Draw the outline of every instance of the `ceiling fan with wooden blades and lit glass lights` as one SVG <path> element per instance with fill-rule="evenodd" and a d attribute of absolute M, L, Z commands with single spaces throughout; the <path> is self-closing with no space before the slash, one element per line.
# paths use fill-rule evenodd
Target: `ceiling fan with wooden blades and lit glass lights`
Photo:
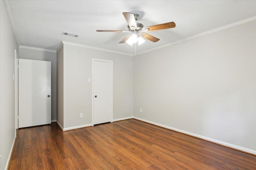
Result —
<path fill-rule="evenodd" d="M 137 20 L 139 18 L 138 14 L 132 14 L 130 12 L 123 12 L 124 18 L 126 19 L 129 31 L 124 30 L 96 30 L 97 32 L 122 32 L 122 33 L 132 33 L 131 35 L 127 35 L 124 39 L 122 39 L 119 43 L 128 43 L 130 45 L 137 43 L 140 45 L 144 43 L 144 39 L 147 39 L 152 42 L 157 42 L 160 39 L 147 34 L 149 31 L 157 31 L 161 29 L 174 28 L 176 24 L 174 22 L 162 23 L 159 25 L 152 25 L 149 27 L 144 27 L 142 23 L 138 23 Z"/>

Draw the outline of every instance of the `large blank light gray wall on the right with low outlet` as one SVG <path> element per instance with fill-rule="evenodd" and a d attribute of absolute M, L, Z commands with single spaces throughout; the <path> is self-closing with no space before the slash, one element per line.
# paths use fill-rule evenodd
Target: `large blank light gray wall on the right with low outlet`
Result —
<path fill-rule="evenodd" d="M 256 21 L 135 56 L 133 76 L 134 117 L 256 153 Z"/>

